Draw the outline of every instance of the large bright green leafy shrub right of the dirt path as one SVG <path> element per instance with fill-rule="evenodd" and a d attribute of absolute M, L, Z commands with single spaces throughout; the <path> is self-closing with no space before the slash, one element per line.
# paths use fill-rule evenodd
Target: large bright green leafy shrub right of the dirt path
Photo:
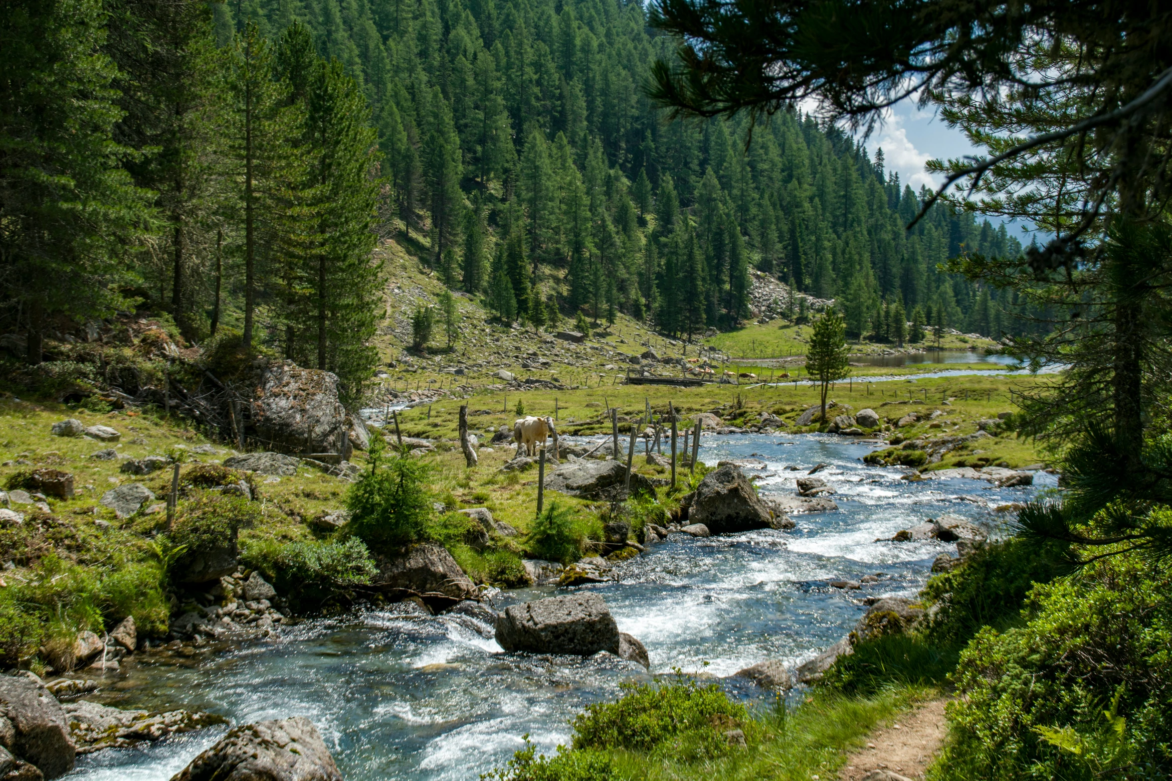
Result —
<path fill-rule="evenodd" d="M 1024 625 L 982 629 L 962 653 L 931 777 L 1168 777 L 1170 592 L 1166 568 L 1134 555 L 1036 585 Z"/>

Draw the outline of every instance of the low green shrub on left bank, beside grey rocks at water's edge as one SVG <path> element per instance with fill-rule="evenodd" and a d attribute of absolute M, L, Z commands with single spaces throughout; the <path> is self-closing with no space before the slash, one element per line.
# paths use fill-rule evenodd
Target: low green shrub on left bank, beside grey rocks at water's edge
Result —
<path fill-rule="evenodd" d="M 280 542 L 246 536 L 240 561 L 260 570 L 294 609 L 321 605 L 341 591 L 369 583 L 379 571 L 357 537 Z"/>

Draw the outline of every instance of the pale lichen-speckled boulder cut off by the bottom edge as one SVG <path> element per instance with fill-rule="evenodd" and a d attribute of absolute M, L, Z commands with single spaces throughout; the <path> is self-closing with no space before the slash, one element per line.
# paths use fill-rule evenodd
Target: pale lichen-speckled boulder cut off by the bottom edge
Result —
<path fill-rule="evenodd" d="M 230 729 L 171 781 L 342 781 L 334 758 L 305 717 Z"/>

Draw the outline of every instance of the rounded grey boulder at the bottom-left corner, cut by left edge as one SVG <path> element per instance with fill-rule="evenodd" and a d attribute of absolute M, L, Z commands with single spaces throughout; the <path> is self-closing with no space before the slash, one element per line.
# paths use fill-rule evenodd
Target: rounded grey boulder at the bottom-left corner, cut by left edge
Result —
<path fill-rule="evenodd" d="M 18 676 L 0 676 L 0 745 L 46 779 L 71 770 L 76 754 L 61 704 L 40 681 Z"/>

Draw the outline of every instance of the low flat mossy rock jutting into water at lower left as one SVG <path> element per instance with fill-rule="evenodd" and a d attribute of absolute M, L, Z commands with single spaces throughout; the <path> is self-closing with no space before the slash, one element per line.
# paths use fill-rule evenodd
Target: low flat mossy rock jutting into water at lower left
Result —
<path fill-rule="evenodd" d="M 103 748 L 129 748 L 143 741 L 154 742 L 169 735 L 224 724 L 223 717 L 211 713 L 168 711 L 151 715 L 148 711 L 123 711 L 88 700 L 69 703 L 62 710 L 79 754 Z"/>

